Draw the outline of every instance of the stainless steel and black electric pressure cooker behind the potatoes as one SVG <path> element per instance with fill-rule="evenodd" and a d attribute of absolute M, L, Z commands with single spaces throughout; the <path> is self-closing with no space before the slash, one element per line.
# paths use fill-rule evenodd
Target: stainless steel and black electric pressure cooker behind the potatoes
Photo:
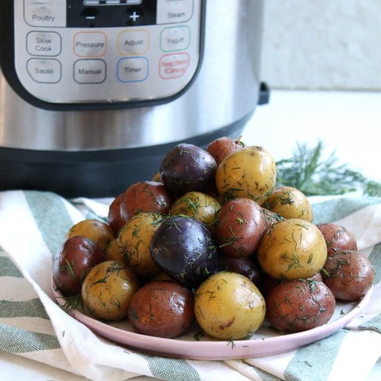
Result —
<path fill-rule="evenodd" d="M 0 189 L 114 197 L 267 102 L 263 1 L 1 0 Z"/>

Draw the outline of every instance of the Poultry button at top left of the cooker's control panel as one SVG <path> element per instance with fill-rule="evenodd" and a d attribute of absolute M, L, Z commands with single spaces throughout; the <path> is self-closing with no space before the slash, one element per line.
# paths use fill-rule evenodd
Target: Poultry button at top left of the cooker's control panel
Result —
<path fill-rule="evenodd" d="M 30 26 L 66 26 L 66 1 L 24 0 L 24 19 Z"/>

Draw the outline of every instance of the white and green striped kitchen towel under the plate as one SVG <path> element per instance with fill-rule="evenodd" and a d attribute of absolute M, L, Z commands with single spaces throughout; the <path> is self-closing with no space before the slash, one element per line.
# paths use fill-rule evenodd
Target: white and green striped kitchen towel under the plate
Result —
<path fill-rule="evenodd" d="M 0 351 L 91 380 L 362 380 L 381 356 L 381 199 L 312 197 L 314 222 L 353 232 L 376 272 L 371 301 L 346 328 L 281 355 L 196 361 L 146 355 L 107 342 L 64 312 L 51 291 L 52 258 L 67 230 L 107 218 L 112 200 L 0 193 Z M 1 371 L 0 371 L 1 375 Z"/>

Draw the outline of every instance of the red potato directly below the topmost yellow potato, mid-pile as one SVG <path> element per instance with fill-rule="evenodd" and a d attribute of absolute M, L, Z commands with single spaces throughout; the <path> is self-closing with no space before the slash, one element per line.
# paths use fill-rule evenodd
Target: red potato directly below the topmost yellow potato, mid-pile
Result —
<path fill-rule="evenodd" d="M 236 198 L 218 211 L 214 236 L 227 256 L 251 256 L 264 232 L 262 208 L 253 200 Z"/>

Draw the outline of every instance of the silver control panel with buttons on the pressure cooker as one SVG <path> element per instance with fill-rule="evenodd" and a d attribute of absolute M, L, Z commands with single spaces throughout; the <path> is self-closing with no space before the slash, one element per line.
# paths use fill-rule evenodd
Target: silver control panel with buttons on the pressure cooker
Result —
<path fill-rule="evenodd" d="M 15 71 L 46 103 L 134 103 L 184 90 L 202 0 L 15 0 Z"/>

